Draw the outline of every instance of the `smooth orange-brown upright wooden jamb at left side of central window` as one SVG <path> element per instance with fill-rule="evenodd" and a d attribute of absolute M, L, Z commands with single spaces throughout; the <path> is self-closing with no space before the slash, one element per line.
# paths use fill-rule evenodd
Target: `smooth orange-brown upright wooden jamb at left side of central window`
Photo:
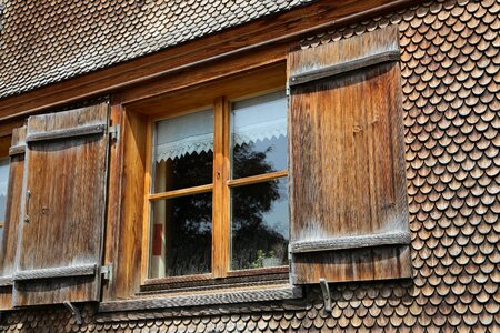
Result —
<path fill-rule="evenodd" d="M 148 122 L 142 114 L 122 113 L 121 158 L 118 163 L 117 232 L 114 234 L 113 266 L 116 274 L 111 281 L 112 294 L 108 299 L 129 299 L 139 292 L 142 276 L 143 251 L 143 212 L 146 201 L 146 164 Z"/>

